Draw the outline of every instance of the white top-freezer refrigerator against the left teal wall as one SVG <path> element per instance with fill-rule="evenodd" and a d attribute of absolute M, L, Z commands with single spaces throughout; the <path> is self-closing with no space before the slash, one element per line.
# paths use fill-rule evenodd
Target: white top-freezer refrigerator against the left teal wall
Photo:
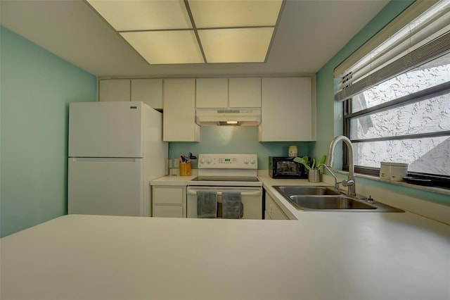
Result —
<path fill-rule="evenodd" d="M 69 106 L 68 213 L 151 216 L 165 175 L 162 113 L 142 102 Z"/>

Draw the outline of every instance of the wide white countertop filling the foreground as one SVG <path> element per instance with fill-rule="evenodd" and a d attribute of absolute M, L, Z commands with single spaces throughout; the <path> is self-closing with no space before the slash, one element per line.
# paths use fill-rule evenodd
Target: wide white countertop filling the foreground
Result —
<path fill-rule="evenodd" d="M 450 299 L 450 226 L 65 215 L 1 242 L 6 299 Z"/>

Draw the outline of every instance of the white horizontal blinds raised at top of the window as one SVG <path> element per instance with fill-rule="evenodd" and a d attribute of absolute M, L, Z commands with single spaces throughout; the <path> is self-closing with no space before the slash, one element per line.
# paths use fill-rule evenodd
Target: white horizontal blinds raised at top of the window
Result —
<path fill-rule="evenodd" d="M 411 15 L 415 15 L 412 20 Z M 450 52 L 450 0 L 416 1 L 393 23 L 397 23 L 397 27 L 401 23 L 407 25 L 391 33 L 392 37 L 361 59 L 358 57 L 361 50 L 356 51 L 335 68 L 335 77 L 339 80 L 335 100 L 345 101 L 369 87 Z M 375 44 L 395 27 L 395 24 L 388 26 L 375 35 Z"/>

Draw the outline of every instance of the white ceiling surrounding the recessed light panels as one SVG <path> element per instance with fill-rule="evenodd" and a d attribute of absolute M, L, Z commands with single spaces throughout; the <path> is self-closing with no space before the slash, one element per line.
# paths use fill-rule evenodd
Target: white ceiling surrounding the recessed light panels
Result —
<path fill-rule="evenodd" d="M 316 73 L 389 0 L 287 0 L 266 63 L 148 65 L 83 0 L 0 0 L 0 23 L 98 77 Z"/>

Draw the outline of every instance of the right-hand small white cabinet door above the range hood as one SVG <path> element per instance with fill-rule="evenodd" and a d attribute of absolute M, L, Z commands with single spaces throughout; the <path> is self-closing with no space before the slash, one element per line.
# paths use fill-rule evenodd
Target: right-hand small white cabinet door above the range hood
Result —
<path fill-rule="evenodd" d="M 261 78 L 230 78 L 230 107 L 261 107 Z"/>

